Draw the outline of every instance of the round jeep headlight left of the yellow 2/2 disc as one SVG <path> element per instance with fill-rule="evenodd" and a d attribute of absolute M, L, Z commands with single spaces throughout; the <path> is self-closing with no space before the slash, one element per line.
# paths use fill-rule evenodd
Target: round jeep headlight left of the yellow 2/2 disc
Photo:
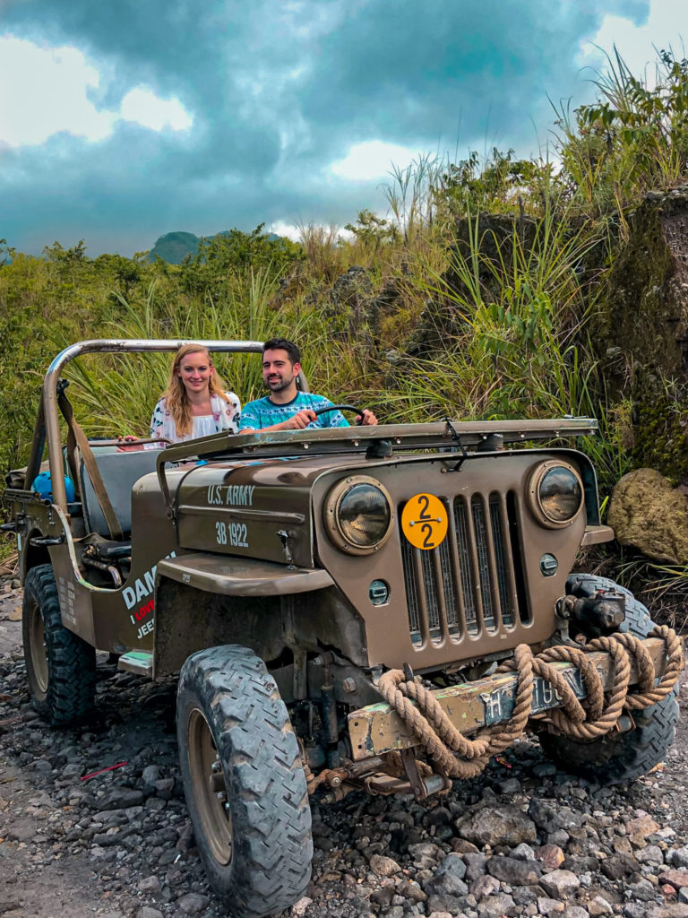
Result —
<path fill-rule="evenodd" d="M 350 554 L 371 554 L 392 532 L 392 499 L 369 476 L 338 482 L 327 495 L 323 514 L 332 543 Z"/>

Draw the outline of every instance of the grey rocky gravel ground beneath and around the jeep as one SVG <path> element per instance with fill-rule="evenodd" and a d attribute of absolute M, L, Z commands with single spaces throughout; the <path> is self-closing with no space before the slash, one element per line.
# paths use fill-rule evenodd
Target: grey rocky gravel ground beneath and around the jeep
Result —
<path fill-rule="evenodd" d="M 0 915 L 216 918 L 172 681 L 104 658 L 96 720 L 50 730 L 28 699 L 16 587 L 0 593 Z M 682 722 L 662 766 L 610 789 L 557 774 L 524 741 L 445 797 L 316 806 L 313 880 L 284 916 L 688 918 L 687 753 Z"/>

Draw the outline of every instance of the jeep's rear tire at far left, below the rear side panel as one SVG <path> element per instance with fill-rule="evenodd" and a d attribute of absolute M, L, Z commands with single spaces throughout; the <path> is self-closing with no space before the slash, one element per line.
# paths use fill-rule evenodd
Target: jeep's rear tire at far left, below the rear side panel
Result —
<path fill-rule="evenodd" d="M 83 721 L 94 708 L 95 650 L 64 627 L 50 565 L 24 584 L 22 639 L 31 700 L 53 727 Z"/>

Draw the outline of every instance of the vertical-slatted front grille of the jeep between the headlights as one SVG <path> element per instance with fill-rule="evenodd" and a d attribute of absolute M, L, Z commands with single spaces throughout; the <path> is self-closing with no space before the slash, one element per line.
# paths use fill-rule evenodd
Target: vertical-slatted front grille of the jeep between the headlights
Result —
<path fill-rule="evenodd" d="M 460 643 L 466 635 L 526 623 L 515 495 L 473 494 L 454 498 L 451 506 L 442 502 L 449 531 L 437 548 L 414 548 L 402 537 L 412 642 Z"/>

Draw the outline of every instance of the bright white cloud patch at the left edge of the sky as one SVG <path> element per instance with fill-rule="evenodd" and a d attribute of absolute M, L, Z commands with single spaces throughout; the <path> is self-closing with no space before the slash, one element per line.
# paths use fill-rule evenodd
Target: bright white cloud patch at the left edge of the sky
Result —
<path fill-rule="evenodd" d="M 161 99 L 144 86 L 128 92 L 118 111 L 98 109 L 88 93 L 99 84 L 97 69 L 76 48 L 0 36 L 0 144 L 34 146 L 60 131 L 104 140 L 121 118 L 156 131 L 193 123 L 178 99 Z"/>

